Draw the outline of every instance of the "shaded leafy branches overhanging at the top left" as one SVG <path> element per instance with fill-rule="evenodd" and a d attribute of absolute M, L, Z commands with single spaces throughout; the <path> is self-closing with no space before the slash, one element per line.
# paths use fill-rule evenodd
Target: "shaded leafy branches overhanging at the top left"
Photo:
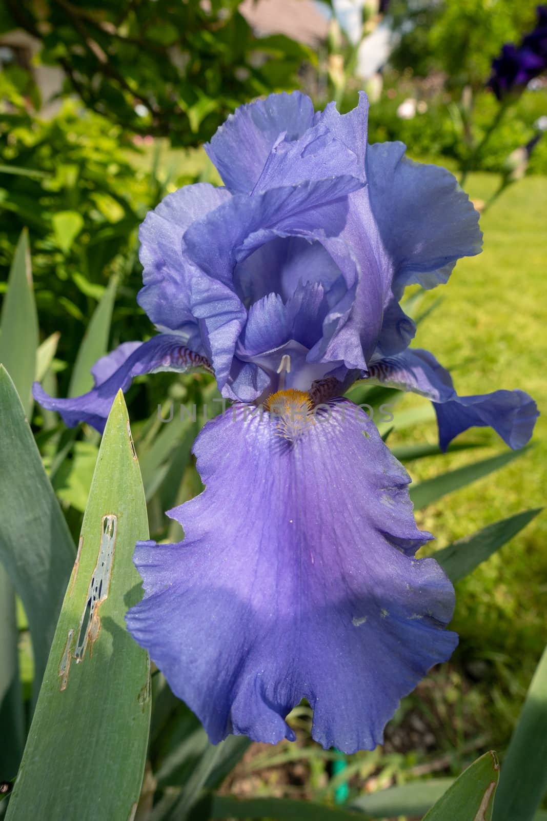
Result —
<path fill-rule="evenodd" d="M 207 140 L 240 103 L 296 85 L 312 51 L 281 34 L 258 38 L 241 0 L 5 0 L 0 32 L 19 28 L 62 67 L 66 91 L 141 135 Z"/>

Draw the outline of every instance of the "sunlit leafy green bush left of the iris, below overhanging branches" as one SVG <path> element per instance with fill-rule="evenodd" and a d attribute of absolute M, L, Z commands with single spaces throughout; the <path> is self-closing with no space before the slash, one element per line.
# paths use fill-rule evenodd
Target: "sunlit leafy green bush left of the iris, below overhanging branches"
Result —
<path fill-rule="evenodd" d="M 135 333 L 137 230 L 161 193 L 150 172 L 135 172 L 135 150 L 120 126 L 72 101 L 48 121 L 13 106 L 0 120 L 0 270 L 28 226 L 41 329 L 61 331 L 62 358 L 72 358 L 114 273 L 116 335 Z"/>

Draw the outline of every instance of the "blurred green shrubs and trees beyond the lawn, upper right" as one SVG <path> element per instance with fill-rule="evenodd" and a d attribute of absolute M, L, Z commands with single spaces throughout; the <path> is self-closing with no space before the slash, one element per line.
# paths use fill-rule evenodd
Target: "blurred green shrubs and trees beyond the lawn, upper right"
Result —
<path fill-rule="evenodd" d="M 547 114 L 547 86 L 539 80 L 503 105 L 487 87 L 502 46 L 519 42 L 534 27 L 536 0 L 392 0 L 385 19 L 368 20 L 363 36 L 380 23 L 391 31 L 390 56 L 381 76 L 363 82 L 355 74 L 359 43 L 350 44 L 331 22 L 322 67 L 328 82 L 315 95 L 320 108 L 335 97 L 348 112 L 365 85 L 369 142 L 401 140 L 414 156 L 443 158 L 461 169 L 463 180 L 471 170 L 491 171 L 507 186 L 525 173 L 547 173 L 540 121 Z M 360 42 L 366 49 L 366 39 Z M 405 101 L 411 101 L 410 110 L 402 114 Z"/>

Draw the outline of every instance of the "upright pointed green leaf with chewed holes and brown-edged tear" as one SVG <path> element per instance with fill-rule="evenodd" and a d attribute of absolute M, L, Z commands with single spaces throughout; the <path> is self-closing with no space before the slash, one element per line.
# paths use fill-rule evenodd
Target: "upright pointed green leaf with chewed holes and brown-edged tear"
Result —
<path fill-rule="evenodd" d="M 150 722 L 148 654 L 125 631 L 141 596 L 132 557 L 148 539 L 121 392 L 108 417 L 9 821 L 129 819 Z"/>

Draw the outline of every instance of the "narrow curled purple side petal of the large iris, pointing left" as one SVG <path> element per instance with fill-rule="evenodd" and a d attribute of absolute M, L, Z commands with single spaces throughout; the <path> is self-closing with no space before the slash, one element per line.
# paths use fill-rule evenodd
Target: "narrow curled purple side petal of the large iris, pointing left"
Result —
<path fill-rule="evenodd" d="M 81 397 L 50 397 L 39 382 L 34 383 L 33 396 L 44 408 L 57 410 L 69 428 L 87 422 L 102 433 L 116 393 L 126 391 L 135 376 L 162 370 L 184 373 L 192 368 L 210 369 L 210 365 L 203 356 L 182 345 L 180 337 L 160 333 L 148 342 L 125 342 L 98 360 L 92 369 L 95 387 Z"/>

